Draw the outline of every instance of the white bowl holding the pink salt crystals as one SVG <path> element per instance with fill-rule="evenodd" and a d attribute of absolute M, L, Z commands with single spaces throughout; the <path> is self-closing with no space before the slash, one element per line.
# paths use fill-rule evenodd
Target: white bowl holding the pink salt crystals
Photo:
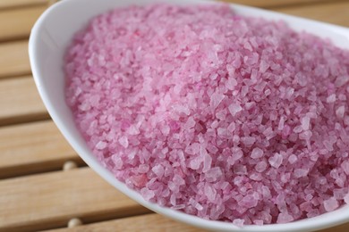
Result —
<path fill-rule="evenodd" d="M 30 65 L 38 87 L 38 92 L 47 111 L 81 158 L 102 178 L 115 186 L 123 194 L 174 220 L 179 220 L 195 227 L 214 231 L 313 231 L 329 228 L 349 221 L 349 205 L 306 220 L 297 220 L 285 224 L 265 226 L 245 226 L 238 228 L 229 222 L 202 220 L 198 217 L 160 207 L 145 201 L 140 194 L 118 181 L 103 168 L 89 150 L 79 130 L 75 127 L 72 112 L 64 100 L 64 51 L 76 31 L 83 28 L 92 17 L 131 4 L 152 4 L 166 2 L 171 4 L 209 4 L 202 0 L 64 0 L 52 5 L 36 22 L 30 35 Z M 319 37 L 330 38 L 336 46 L 349 48 L 349 30 L 317 21 L 305 20 L 282 13 L 269 12 L 243 5 L 231 4 L 234 11 L 241 15 L 261 16 L 269 20 L 283 20 L 296 30 L 306 30 Z"/>

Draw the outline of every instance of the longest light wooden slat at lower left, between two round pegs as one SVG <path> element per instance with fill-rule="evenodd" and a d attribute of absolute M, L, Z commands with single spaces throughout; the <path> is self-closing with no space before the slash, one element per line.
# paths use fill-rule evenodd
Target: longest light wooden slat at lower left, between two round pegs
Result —
<path fill-rule="evenodd" d="M 0 181 L 0 231 L 64 227 L 140 215 L 149 210 L 121 194 L 89 168 Z"/>

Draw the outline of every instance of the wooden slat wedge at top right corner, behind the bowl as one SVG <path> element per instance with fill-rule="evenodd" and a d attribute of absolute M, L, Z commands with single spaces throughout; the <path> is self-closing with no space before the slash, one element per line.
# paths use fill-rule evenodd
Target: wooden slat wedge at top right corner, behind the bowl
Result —
<path fill-rule="evenodd" d="M 277 11 L 349 27 L 349 1 L 285 7 L 277 9 Z"/>

